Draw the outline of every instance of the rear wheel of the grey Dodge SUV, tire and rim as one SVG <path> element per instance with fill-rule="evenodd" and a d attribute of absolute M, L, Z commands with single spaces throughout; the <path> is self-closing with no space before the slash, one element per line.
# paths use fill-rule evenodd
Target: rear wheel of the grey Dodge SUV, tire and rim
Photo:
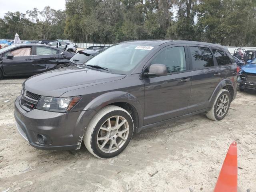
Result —
<path fill-rule="evenodd" d="M 228 100 L 226 100 L 226 97 Z M 224 104 L 221 103 L 222 100 L 223 100 Z M 222 120 L 228 113 L 230 102 L 231 102 L 231 97 L 230 97 L 230 93 L 228 92 L 228 90 L 226 90 L 226 89 L 220 90 L 220 92 L 218 93 L 218 95 L 214 101 L 214 105 L 212 106 L 211 110 L 206 113 L 206 116 L 209 119 L 214 120 L 214 121 Z M 220 112 L 220 110 L 221 110 L 221 112 Z"/>

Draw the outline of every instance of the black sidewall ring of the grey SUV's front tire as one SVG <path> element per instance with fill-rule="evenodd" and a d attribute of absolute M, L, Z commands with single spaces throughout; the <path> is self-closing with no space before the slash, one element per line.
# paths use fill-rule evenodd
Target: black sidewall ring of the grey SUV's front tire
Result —
<path fill-rule="evenodd" d="M 98 136 L 98 131 L 100 130 L 100 126 L 102 126 L 102 124 L 110 117 L 112 116 L 122 116 L 124 117 L 128 124 L 129 124 L 129 134 L 128 134 L 128 138 L 126 140 L 126 142 L 124 143 L 124 145 L 117 151 L 113 152 L 113 153 L 105 153 L 102 152 L 100 150 L 100 148 L 98 147 L 97 144 L 97 136 Z M 129 144 L 130 140 L 132 139 L 132 134 L 133 134 L 133 121 L 132 118 L 129 114 L 127 114 L 126 112 L 122 111 L 122 110 L 114 110 L 112 112 L 107 113 L 106 115 L 104 115 L 96 124 L 93 133 L 92 133 L 92 140 L 91 140 L 91 148 L 93 150 L 93 152 L 99 156 L 100 158 L 112 158 L 114 156 L 117 156 L 118 154 L 120 154 Z"/>

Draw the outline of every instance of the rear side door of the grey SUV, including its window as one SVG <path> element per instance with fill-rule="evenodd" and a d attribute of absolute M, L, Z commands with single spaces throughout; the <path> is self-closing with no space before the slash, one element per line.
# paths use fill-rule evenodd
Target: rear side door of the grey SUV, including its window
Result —
<path fill-rule="evenodd" d="M 188 113 L 209 107 L 210 98 L 222 80 L 222 68 L 218 66 L 208 46 L 188 45 L 192 73 Z"/>

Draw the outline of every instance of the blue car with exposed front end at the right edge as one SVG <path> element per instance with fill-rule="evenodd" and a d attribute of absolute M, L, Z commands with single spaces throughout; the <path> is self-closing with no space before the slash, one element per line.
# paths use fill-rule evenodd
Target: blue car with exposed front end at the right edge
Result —
<path fill-rule="evenodd" d="M 238 72 L 238 89 L 256 91 L 256 59 L 241 67 Z"/>

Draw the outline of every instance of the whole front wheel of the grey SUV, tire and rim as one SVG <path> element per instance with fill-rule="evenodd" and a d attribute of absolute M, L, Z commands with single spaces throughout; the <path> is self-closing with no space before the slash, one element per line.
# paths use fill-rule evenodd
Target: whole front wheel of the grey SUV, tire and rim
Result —
<path fill-rule="evenodd" d="M 122 125 L 116 129 L 117 119 L 119 125 L 121 123 Z M 120 154 L 129 144 L 133 127 L 132 117 L 126 110 L 118 106 L 106 106 L 90 121 L 84 134 L 84 144 L 94 156 L 112 158 Z"/>

